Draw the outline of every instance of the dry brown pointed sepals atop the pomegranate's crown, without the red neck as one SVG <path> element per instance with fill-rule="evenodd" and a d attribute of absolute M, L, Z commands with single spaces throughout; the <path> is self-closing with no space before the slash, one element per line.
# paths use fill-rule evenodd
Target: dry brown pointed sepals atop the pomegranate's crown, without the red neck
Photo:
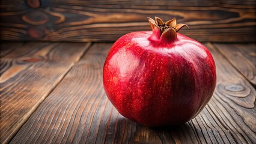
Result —
<path fill-rule="evenodd" d="M 150 23 L 151 29 L 152 30 L 154 30 L 154 28 L 159 29 L 161 35 L 165 34 L 168 31 L 173 31 L 173 32 L 175 31 L 175 33 L 177 34 L 177 32 L 180 31 L 181 28 L 183 28 L 184 26 L 187 26 L 182 23 L 177 25 L 175 18 L 173 18 L 172 20 L 168 20 L 165 23 L 159 17 L 154 17 L 154 18 L 155 20 L 151 19 L 150 17 L 147 17 L 148 22 Z"/>

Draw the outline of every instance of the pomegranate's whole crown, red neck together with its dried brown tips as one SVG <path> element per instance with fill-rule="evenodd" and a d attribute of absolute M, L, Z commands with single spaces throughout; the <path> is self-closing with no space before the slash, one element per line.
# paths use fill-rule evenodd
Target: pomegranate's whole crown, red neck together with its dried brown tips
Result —
<path fill-rule="evenodd" d="M 151 40 L 173 40 L 177 38 L 177 32 L 180 31 L 180 29 L 184 26 L 187 26 L 182 23 L 177 25 L 175 18 L 173 18 L 172 20 L 168 20 L 165 23 L 159 17 L 154 18 L 155 20 L 151 19 L 150 17 L 147 17 L 148 22 L 150 23 L 151 29 L 153 31 L 153 34 L 150 37 Z M 187 26 L 187 28 L 188 27 L 189 26 Z"/>

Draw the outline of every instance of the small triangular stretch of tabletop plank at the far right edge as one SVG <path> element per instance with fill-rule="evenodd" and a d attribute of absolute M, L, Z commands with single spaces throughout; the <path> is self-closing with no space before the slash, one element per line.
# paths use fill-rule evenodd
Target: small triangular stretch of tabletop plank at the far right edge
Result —
<path fill-rule="evenodd" d="M 256 87 L 255 44 L 215 44 L 215 46 Z"/>

